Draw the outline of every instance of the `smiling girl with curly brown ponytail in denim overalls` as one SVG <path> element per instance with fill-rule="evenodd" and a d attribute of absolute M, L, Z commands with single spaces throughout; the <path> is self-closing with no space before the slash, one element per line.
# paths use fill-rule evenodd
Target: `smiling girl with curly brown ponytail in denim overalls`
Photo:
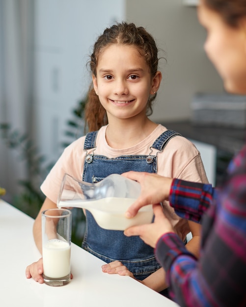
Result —
<path fill-rule="evenodd" d="M 40 212 L 56 206 L 64 173 L 90 183 L 130 170 L 208 182 L 194 145 L 148 117 L 162 74 L 155 41 L 143 27 L 120 23 L 107 28 L 94 45 L 90 69 L 92 86 L 85 111 L 90 132 L 65 149 L 43 182 L 47 198 Z M 198 257 L 200 226 L 180 219 L 167 202 L 163 206 L 184 242 L 191 231 L 186 246 Z M 33 232 L 41 251 L 40 215 Z M 103 272 L 132 276 L 158 292 L 166 288 L 153 248 L 123 231 L 100 228 L 88 211 L 82 248 L 109 263 Z M 27 267 L 27 278 L 42 283 L 41 274 L 42 259 Z"/>

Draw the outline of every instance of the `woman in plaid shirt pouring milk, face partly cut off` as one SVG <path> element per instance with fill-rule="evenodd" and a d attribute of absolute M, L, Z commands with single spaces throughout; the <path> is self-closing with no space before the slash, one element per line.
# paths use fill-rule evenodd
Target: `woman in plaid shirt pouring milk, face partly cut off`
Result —
<path fill-rule="evenodd" d="M 246 0 L 200 0 L 198 18 L 207 29 L 205 51 L 227 91 L 246 94 Z M 164 199 L 176 213 L 202 220 L 200 258 L 187 251 L 162 212 L 155 222 L 125 230 L 155 248 L 170 295 L 181 306 L 246 306 L 246 146 L 231 161 L 223 186 L 129 172 L 142 193 L 126 215 Z M 127 271 L 121 274 L 128 274 Z"/>

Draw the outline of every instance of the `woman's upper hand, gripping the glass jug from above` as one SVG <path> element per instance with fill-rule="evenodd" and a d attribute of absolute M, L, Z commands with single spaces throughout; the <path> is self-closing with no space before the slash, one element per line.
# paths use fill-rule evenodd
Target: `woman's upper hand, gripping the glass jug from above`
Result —
<path fill-rule="evenodd" d="M 142 206 L 159 204 L 169 197 L 172 178 L 134 171 L 123 173 L 122 176 L 136 180 L 141 185 L 140 196 L 126 211 L 127 218 L 134 217 Z"/>

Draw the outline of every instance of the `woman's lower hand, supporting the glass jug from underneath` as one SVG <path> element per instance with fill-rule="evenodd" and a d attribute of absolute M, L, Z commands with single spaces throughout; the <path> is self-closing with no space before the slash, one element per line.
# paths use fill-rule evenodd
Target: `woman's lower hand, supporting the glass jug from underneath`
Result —
<path fill-rule="evenodd" d="M 133 226 L 124 231 L 126 236 L 139 235 L 139 237 L 153 248 L 156 247 L 159 238 L 168 232 L 174 232 L 170 221 L 165 217 L 161 205 L 153 205 L 155 220 L 152 224 Z"/>

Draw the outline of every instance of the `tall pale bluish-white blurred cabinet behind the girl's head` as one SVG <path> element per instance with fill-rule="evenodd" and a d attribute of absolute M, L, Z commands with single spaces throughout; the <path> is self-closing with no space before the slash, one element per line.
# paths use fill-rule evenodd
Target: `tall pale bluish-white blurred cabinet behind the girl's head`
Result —
<path fill-rule="evenodd" d="M 90 83 L 91 48 L 105 27 L 125 18 L 125 0 L 36 0 L 34 42 L 35 136 L 56 161 L 67 121 Z"/>

